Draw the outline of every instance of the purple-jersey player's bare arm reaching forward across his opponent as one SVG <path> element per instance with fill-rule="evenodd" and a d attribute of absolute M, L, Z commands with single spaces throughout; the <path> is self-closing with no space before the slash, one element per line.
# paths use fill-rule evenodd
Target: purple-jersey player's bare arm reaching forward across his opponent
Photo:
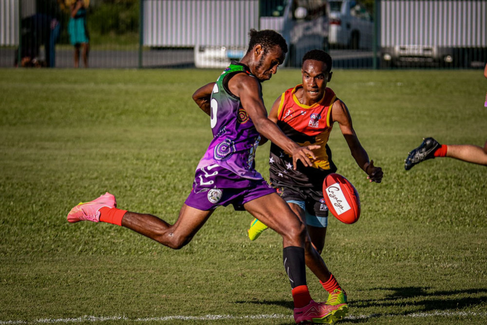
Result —
<path fill-rule="evenodd" d="M 300 160 L 304 166 L 312 166 L 309 157 L 316 159 L 316 156 L 311 150 L 318 149 L 319 146 L 313 145 L 300 147 L 282 133 L 276 123 L 272 122 L 267 117 L 267 111 L 265 110 L 260 95 L 261 88 L 254 77 L 244 74 L 233 76 L 228 82 L 228 88 L 235 96 L 240 97 L 242 107 L 252 119 L 257 132 L 293 156 L 294 169 L 297 168 L 298 160 Z"/>

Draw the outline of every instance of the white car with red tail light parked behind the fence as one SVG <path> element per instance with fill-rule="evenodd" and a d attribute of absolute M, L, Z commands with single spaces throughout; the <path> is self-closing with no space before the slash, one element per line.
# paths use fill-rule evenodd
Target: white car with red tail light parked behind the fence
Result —
<path fill-rule="evenodd" d="M 328 2 L 330 4 L 330 46 L 371 49 L 374 21 L 365 7 L 353 0 Z"/>

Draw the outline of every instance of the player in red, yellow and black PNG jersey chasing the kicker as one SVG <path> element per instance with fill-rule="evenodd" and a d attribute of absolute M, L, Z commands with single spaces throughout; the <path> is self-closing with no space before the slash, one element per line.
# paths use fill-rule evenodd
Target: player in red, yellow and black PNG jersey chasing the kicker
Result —
<path fill-rule="evenodd" d="M 370 182 L 380 183 L 383 176 L 382 169 L 374 166 L 374 161 L 369 160 L 360 144 L 347 106 L 332 89 L 326 87 L 332 78 L 331 67 L 332 58 L 326 52 L 312 50 L 306 53 L 302 59 L 302 84 L 282 93 L 269 113 L 269 119 L 300 146 L 320 146 L 313 150 L 316 159 L 312 160 L 313 166 L 310 167 L 298 164 L 297 169 L 293 169 L 291 155 L 274 143 L 271 144 L 269 156 L 270 181 L 291 210 L 306 224 L 317 254 L 324 247 L 328 224 L 328 208 L 323 199 L 322 184 L 326 175 L 337 171 L 327 144 L 335 122 L 352 156 Z M 264 224 L 254 219 L 248 231 L 249 238 L 255 240 L 265 229 Z M 306 262 L 311 259 L 311 256 L 306 255 Z M 329 292 L 327 304 L 346 303 L 346 293 L 328 269 L 312 271 Z"/>

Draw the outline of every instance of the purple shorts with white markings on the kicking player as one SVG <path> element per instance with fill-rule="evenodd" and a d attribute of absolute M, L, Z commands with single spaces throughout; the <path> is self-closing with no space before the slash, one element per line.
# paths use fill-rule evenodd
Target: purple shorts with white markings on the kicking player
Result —
<path fill-rule="evenodd" d="M 245 203 L 275 192 L 263 179 L 243 178 L 218 165 L 211 165 L 196 170 L 193 189 L 185 204 L 205 211 L 229 204 L 235 210 L 245 210 Z"/>

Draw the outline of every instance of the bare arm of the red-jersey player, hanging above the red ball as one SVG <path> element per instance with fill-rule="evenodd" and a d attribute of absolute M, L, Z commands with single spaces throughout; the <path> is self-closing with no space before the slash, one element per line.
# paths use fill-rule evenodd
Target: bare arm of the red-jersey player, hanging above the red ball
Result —
<path fill-rule="evenodd" d="M 374 160 L 369 161 L 369 155 L 358 141 L 352 125 L 352 117 L 347 106 L 341 100 L 337 99 L 332 106 L 332 120 L 338 122 L 340 130 L 347 141 L 350 152 L 357 162 L 358 166 L 367 174 L 371 182 L 380 183 L 382 181 L 382 168 L 374 166 Z"/>

